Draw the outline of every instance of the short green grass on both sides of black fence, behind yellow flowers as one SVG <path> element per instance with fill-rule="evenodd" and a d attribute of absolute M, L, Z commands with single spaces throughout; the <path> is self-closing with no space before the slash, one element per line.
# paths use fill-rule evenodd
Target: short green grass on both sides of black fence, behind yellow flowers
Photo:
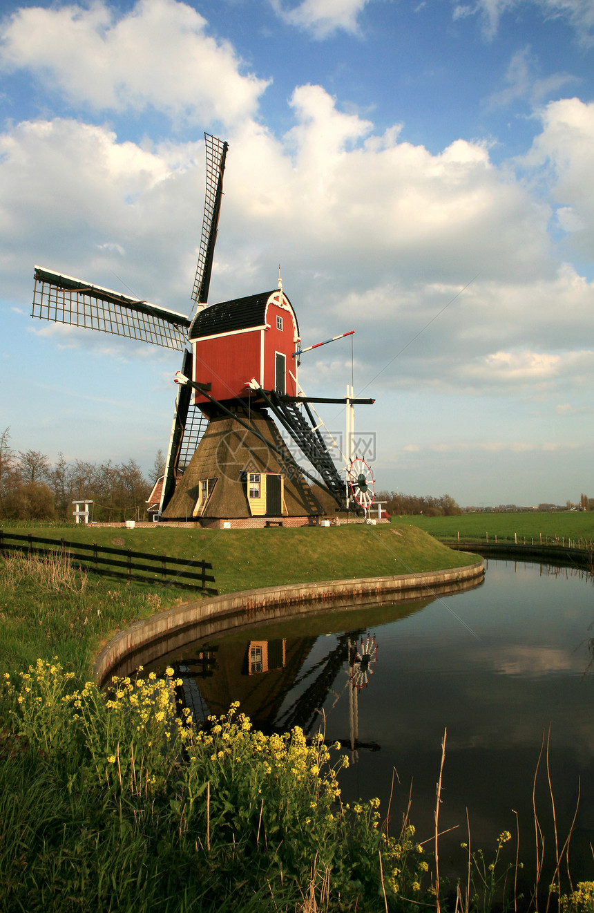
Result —
<path fill-rule="evenodd" d="M 6 530 L 8 531 L 8 530 Z M 220 593 L 258 586 L 432 571 L 474 558 L 451 551 L 422 530 L 384 525 L 266 530 L 135 530 L 19 527 L 10 531 L 57 540 L 97 541 L 134 551 L 211 561 Z M 0 671 L 57 656 L 78 677 L 89 677 L 92 657 L 116 631 L 172 604 L 195 598 L 174 585 L 121 584 L 90 574 L 61 585 L 5 565 L 0 575 Z M 17 579 L 18 578 L 18 579 Z"/>

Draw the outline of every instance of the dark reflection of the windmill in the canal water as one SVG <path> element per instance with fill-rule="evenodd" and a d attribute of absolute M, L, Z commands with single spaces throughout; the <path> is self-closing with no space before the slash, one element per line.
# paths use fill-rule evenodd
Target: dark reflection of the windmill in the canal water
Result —
<path fill-rule="evenodd" d="M 167 663 L 182 678 L 181 701 L 198 721 L 226 713 L 233 701 L 239 701 L 241 711 L 257 729 L 286 732 L 299 726 L 311 735 L 326 713 L 322 708 L 328 704 L 329 724 L 340 698 L 347 695 L 349 726 L 338 740 L 352 751 L 378 750 L 377 740 L 359 738 L 359 695 L 375 673 L 377 641 L 367 626 L 339 632 L 327 629 L 356 620 L 387 624 L 421 611 L 427 604 L 425 600 L 383 605 L 368 610 L 370 615 L 332 614 L 307 623 L 267 625 L 256 628 L 251 639 L 242 633 L 218 642 L 198 641 L 182 650 L 182 658 L 169 655 Z M 313 629 L 312 633 L 299 635 L 304 627 Z M 280 634 L 286 636 L 277 636 Z M 153 664 L 145 673 L 153 667 L 162 671 Z"/>

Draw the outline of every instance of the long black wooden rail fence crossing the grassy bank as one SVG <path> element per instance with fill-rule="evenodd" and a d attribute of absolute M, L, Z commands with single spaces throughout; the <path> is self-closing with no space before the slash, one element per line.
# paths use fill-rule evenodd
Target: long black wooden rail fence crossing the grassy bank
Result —
<path fill-rule="evenodd" d="M 182 589 L 203 590 L 209 595 L 217 595 L 218 592 L 214 587 L 207 586 L 207 583 L 214 583 L 212 573 L 207 573 L 213 570 L 213 565 L 208 561 L 188 561 L 146 551 L 111 549 L 107 545 L 98 545 L 97 542 L 89 545 L 64 539 L 44 539 L 30 533 L 18 536 L 0 530 L 0 554 L 5 554 L 6 551 L 20 551 L 22 554 L 42 557 L 68 555 L 69 560 L 83 570 L 109 577 L 149 583 L 174 583 Z"/>

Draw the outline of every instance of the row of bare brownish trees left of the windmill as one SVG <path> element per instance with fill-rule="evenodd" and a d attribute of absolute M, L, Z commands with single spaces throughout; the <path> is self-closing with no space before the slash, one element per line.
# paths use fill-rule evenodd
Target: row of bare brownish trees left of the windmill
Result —
<path fill-rule="evenodd" d="M 72 501 L 92 500 L 99 522 L 146 519 L 146 500 L 162 475 L 162 451 L 147 479 L 136 460 L 126 463 L 68 461 L 60 454 L 50 463 L 38 450 L 15 451 L 10 429 L 0 432 L 0 519 L 73 519 Z"/>

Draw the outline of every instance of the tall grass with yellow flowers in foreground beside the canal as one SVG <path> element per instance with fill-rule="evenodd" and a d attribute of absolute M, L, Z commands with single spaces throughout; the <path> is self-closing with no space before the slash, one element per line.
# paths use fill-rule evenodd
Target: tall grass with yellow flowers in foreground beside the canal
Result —
<path fill-rule="evenodd" d="M 558 839 L 555 826 L 556 869 L 541 889 L 539 868 L 520 897 L 511 834 L 489 861 L 469 828 L 468 870 L 453 884 L 440 875 L 437 812 L 425 854 L 410 803 L 393 837 L 379 800 L 341 802 L 338 745 L 298 728 L 266 737 L 236 706 L 196 729 L 175 712 L 172 674 L 116 679 L 109 693 L 77 687 L 56 659 L 5 674 L 1 910 L 591 913 L 594 883 L 562 877 L 570 832 Z M 445 736 L 440 778 L 444 759 Z"/>

